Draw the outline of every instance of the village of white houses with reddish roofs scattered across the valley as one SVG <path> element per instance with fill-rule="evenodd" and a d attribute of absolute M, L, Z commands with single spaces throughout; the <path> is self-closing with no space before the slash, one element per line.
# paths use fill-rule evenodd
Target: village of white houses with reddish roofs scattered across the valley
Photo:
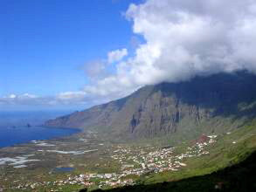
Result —
<path fill-rule="evenodd" d="M 97 186 L 99 189 L 134 185 L 136 180 L 146 174 L 164 171 L 179 171 L 187 166 L 183 160 L 191 157 L 207 155 L 205 147 L 216 141 L 217 135 L 201 136 L 187 147 L 182 154 L 175 154 L 176 147 L 127 147 L 117 145 L 110 157 L 120 167 L 114 173 L 83 173 L 80 175 L 66 175 L 66 179 L 54 182 L 30 182 L 19 184 L 13 189 L 38 189 L 38 187 L 52 186 L 51 191 L 60 191 L 65 185 L 80 185 L 84 188 Z M 97 166 L 97 163 L 95 164 Z M 14 182 L 15 183 L 15 182 Z M 60 188 L 61 189 L 61 188 Z"/>

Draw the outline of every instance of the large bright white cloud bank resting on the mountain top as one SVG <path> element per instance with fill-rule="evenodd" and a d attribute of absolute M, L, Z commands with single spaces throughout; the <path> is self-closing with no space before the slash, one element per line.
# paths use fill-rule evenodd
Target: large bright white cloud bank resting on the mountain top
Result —
<path fill-rule="evenodd" d="M 90 85 L 56 99 L 117 99 L 163 81 L 256 72 L 254 0 L 146 0 L 130 4 L 126 17 L 143 43 L 130 54 L 126 48 L 109 51 L 90 71 Z M 107 72 L 109 66 L 114 72 Z"/>

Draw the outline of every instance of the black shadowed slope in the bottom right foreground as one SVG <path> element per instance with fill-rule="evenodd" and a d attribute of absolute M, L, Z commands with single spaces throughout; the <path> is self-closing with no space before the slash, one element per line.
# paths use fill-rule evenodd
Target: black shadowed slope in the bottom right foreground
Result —
<path fill-rule="evenodd" d="M 256 191 L 256 151 L 245 161 L 232 167 L 218 170 L 210 175 L 195 176 L 176 182 L 163 182 L 156 184 L 127 186 L 117 189 L 101 190 L 93 192 L 253 192 Z M 80 192 L 85 192 L 81 189 Z"/>

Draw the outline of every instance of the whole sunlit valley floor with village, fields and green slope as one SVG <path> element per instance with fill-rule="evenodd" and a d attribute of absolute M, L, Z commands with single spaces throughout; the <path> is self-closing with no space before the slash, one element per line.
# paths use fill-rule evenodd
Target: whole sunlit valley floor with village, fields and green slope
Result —
<path fill-rule="evenodd" d="M 202 135 L 176 147 L 111 143 L 93 132 L 31 141 L 0 149 L 0 191 L 119 191 L 122 186 L 142 191 L 146 185 L 145 189 L 154 189 L 157 182 L 164 183 L 156 186 L 169 189 L 183 183 L 173 181 L 236 164 L 255 148 L 253 126 L 222 135 Z M 211 185 L 222 182 L 212 178 Z"/>

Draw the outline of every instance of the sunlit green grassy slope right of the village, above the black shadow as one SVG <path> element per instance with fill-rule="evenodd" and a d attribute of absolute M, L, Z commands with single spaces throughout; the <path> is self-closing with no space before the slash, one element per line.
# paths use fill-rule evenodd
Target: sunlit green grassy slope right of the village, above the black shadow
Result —
<path fill-rule="evenodd" d="M 154 174 L 145 179 L 143 183 L 156 183 L 164 181 L 176 181 L 196 175 L 210 174 L 218 169 L 232 166 L 243 161 L 256 149 L 256 127 L 254 124 L 238 129 L 232 134 L 225 134 L 211 147 L 209 155 L 184 159 L 186 168 L 178 172 L 164 172 Z M 233 144 L 232 141 L 236 141 Z M 176 148 L 176 153 L 183 153 L 184 149 L 190 145 L 184 143 Z"/>

